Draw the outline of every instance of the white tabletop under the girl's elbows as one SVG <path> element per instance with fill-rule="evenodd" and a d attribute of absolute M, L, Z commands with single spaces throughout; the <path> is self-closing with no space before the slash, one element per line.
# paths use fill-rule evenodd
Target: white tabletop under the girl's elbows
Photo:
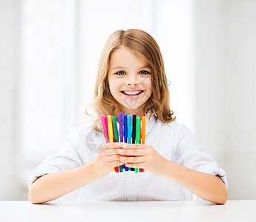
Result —
<path fill-rule="evenodd" d="M 0 221 L 256 221 L 256 201 L 58 202 L 0 201 Z"/>

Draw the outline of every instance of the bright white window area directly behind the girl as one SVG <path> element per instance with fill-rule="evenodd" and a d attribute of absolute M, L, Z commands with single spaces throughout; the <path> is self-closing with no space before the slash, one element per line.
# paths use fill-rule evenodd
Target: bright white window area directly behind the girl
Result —
<path fill-rule="evenodd" d="M 27 176 L 86 120 L 99 55 L 115 30 L 139 28 L 156 39 L 171 82 L 171 109 L 194 130 L 191 2 L 22 1 L 20 132 Z"/>

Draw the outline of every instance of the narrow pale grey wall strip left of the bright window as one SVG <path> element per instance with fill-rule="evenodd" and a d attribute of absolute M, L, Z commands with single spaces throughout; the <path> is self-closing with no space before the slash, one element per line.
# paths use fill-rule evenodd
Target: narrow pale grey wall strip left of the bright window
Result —
<path fill-rule="evenodd" d="M 0 195 L 19 196 L 19 1 L 0 1 Z"/>

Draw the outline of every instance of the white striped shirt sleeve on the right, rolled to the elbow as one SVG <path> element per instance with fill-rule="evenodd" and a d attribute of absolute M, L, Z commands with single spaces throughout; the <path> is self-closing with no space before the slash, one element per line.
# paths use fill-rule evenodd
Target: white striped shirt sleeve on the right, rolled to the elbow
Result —
<path fill-rule="evenodd" d="M 202 147 L 200 147 L 192 132 L 185 125 L 180 124 L 178 128 L 175 140 L 175 161 L 177 164 L 211 175 L 219 175 L 226 187 L 228 187 L 226 172 L 218 166 L 211 155 L 203 152 Z"/>

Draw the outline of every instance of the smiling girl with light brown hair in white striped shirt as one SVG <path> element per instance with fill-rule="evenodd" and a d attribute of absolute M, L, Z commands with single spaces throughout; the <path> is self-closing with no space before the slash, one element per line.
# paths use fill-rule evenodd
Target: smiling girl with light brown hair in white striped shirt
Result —
<path fill-rule="evenodd" d="M 38 166 L 29 183 L 31 203 L 52 201 L 80 189 L 79 201 L 185 201 L 182 187 L 223 204 L 226 174 L 202 151 L 169 106 L 163 58 L 142 30 L 118 30 L 99 61 L 93 125 L 77 127 L 57 155 Z M 146 144 L 104 144 L 99 115 L 146 115 Z M 86 112 L 88 114 L 88 112 Z M 114 172 L 125 164 L 145 172 Z"/>

